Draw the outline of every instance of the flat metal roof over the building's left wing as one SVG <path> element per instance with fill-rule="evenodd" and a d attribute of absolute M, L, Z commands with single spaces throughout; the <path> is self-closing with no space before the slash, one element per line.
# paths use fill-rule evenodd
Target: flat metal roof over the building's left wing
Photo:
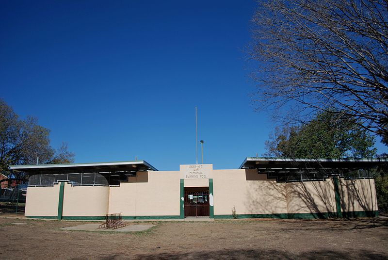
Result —
<path fill-rule="evenodd" d="M 11 170 L 17 172 L 63 172 L 71 171 L 157 171 L 157 169 L 146 161 L 126 162 L 91 162 L 91 163 L 58 163 L 58 164 L 32 164 L 32 165 L 10 165 Z"/>

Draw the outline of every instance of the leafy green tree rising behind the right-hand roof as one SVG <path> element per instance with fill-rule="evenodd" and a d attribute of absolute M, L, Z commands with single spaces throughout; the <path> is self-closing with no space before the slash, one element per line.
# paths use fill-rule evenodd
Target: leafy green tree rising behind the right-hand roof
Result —
<path fill-rule="evenodd" d="M 355 119 L 338 120 L 330 112 L 305 125 L 277 128 L 265 142 L 266 156 L 288 158 L 372 158 L 374 138 Z"/>

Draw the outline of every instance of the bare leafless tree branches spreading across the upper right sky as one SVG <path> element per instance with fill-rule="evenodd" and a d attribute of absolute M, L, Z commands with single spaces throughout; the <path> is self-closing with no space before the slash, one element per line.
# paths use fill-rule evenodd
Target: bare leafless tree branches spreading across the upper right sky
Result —
<path fill-rule="evenodd" d="M 388 1 L 258 4 L 248 48 L 257 108 L 293 120 L 320 112 L 356 118 L 387 144 Z"/>

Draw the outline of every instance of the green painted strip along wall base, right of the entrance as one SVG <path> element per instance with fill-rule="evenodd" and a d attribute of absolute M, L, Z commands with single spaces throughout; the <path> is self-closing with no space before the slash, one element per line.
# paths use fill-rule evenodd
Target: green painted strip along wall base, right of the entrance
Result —
<path fill-rule="evenodd" d="M 348 211 L 342 212 L 344 218 L 377 217 L 378 211 Z M 239 214 L 237 218 L 278 218 L 278 219 L 324 219 L 335 218 L 337 212 L 319 213 L 275 213 L 275 214 Z M 233 215 L 214 215 L 215 219 L 233 218 Z"/>

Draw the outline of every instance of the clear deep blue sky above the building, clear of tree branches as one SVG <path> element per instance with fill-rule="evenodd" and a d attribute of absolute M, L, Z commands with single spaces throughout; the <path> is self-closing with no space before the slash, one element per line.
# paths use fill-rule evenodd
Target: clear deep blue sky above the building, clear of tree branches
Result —
<path fill-rule="evenodd" d="M 274 124 L 242 49 L 255 1 L 1 1 L 1 98 L 76 162 L 237 168 Z M 376 142 L 379 152 L 385 147 Z M 199 162 L 200 146 L 198 144 Z"/>

